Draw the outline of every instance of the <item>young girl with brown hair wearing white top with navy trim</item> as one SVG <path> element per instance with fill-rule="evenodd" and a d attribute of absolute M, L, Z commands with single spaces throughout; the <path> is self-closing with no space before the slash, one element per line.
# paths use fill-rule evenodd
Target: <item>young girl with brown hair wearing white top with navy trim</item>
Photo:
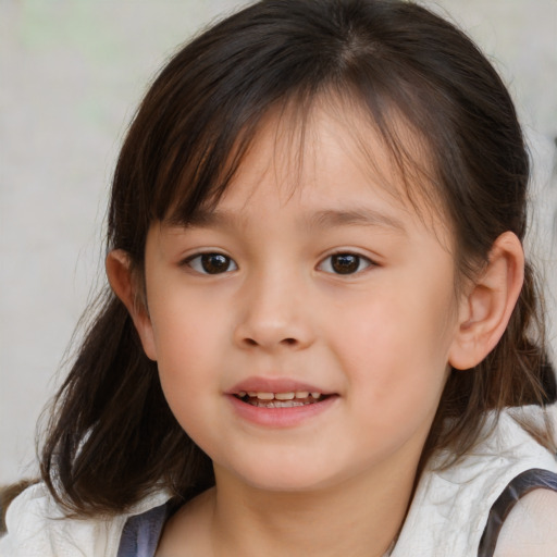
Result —
<path fill-rule="evenodd" d="M 197 37 L 122 148 L 111 290 L 2 557 L 555 557 L 528 176 L 502 81 L 419 5 Z"/>

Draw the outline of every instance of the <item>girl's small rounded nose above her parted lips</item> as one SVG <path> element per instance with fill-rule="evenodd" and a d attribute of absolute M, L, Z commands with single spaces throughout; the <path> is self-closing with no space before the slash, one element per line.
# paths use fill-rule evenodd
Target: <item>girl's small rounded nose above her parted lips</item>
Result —
<path fill-rule="evenodd" d="M 259 277 L 238 293 L 234 342 L 265 351 L 302 349 L 314 341 L 310 305 L 304 288 L 283 275 Z"/>

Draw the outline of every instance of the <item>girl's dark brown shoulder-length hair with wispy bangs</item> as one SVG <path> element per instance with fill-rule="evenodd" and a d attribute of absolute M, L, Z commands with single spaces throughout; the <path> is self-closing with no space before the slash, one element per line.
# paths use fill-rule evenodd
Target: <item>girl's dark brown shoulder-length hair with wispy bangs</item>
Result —
<path fill-rule="evenodd" d="M 411 2 L 263 0 L 185 46 L 152 84 L 117 162 L 108 249 L 129 253 L 140 276 L 151 223 L 187 222 L 216 200 L 271 108 L 310 107 L 327 92 L 364 108 L 403 168 L 393 109 L 418 132 L 461 274 L 486 261 L 502 233 L 523 238 L 522 133 L 499 76 L 466 35 Z M 183 497 L 207 488 L 210 459 L 172 416 L 125 307 L 107 289 L 92 311 L 57 397 L 45 482 L 82 515 L 121 511 L 160 486 Z M 555 400 L 542 313 L 527 265 L 498 346 L 475 369 L 450 374 L 423 461 L 442 447 L 455 457 L 469 450 L 487 410 Z"/>

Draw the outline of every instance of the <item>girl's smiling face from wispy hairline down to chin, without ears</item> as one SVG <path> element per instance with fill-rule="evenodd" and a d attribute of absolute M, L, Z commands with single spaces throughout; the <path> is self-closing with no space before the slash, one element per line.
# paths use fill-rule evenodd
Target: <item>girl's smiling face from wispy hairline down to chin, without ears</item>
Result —
<path fill-rule="evenodd" d="M 139 332 L 218 481 L 305 491 L 413 471 L 447 377 L 446 228 L 379 185 L 325 111 L 306 145 L 296 159 L 271 117 L 214 211 L 148 234 Z"/>

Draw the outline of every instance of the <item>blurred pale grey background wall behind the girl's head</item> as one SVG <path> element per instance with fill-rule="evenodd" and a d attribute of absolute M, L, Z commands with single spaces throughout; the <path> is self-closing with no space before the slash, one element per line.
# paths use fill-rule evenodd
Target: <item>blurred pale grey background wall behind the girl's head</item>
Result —
<path fill-rule="evenodd" d="M 242 4 L 0 0 L 0 484 L 36 473 L 35 423 L 104 280 L 108 186 L 147 83 L 191 33 Z M 557 325 L 557 0 L 435 9 L 475 38 L 517 101 L 535 163 L 529 249 Z"/>

